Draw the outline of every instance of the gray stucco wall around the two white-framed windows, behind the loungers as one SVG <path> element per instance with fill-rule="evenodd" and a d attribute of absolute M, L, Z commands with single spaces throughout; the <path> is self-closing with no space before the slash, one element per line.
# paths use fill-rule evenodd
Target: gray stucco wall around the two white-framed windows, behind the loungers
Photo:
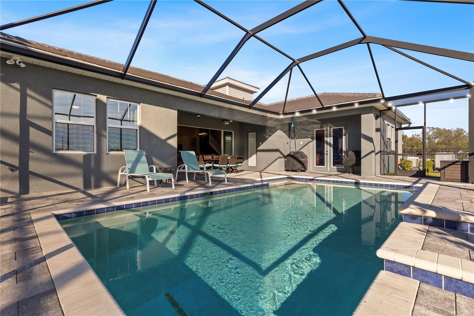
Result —
<path fill-rule="evenodd" d="M 20 68 L 5 61 L 0 60 L 2 196 L 115 186 L 125 160 L 121 154 L 106 154 L 107 97 L 140 104 L 139 147 L 146 151 L 149 163 L 158 167 L 176 166 L 178 111 L 235 121 L 272 121 L 251 112 L 37 65 Z M 96 95 L 95 154 L 52 153 L 53 89 Z"/>

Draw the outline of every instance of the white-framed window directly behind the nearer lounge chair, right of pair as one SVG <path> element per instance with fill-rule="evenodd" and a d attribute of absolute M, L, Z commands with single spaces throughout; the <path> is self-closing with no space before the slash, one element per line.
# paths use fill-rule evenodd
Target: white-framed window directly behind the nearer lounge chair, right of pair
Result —
<path fill-rule="evenodd" d="M 138 149 L 138 104 L 107 99 L 108 152 Z"/>

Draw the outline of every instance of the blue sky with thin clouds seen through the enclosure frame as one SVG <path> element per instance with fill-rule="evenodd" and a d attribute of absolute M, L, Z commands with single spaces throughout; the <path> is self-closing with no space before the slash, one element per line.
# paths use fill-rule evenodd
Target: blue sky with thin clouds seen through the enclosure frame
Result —
<path fill-rule="evenodd" d="M 246 28 L 253 28 L 299 3 L 205 2 Z M 79 3 L 82 2 L 1 0 L 1 24 Z M 11 28 L 7 33 L 123 63 L 148 3 L 115 0 Z M 345 3 L 368 35 L 474 52 L 474 6 L 392 0 L 346 0 Z M 243 35 L 243 31 L 194 1 L 161 0 L 156 4 L 132 65 L 206 84 Z M 259 36 L 299 58 L 360 37 L 360 33 L 337 1 L 325 0 L 262 31 Z M 373 45 L 372 50 L 387 96 L 461 84 L 383 46 Z M 405 52 L 469 82 L 474 80 L 473 63 Z M 264 89 L 288 64 L 288 58 L 250 39 L 222 76 Z M 318 93 L 380 91 L 367 47 L 363 45 L 302 63 L 301 67 Z M 287 80 L 283 78 L 261 101 L 283 100 Z M 289 98 L 309 94 L 311 91 L 302 75 L 294 71 Z M 465 104 L 467 101 L 461 100 L 449 106 L 455 109 L 466 107 Z M 449 124 L 455 125 L 456 121 L 453 116 Z"/>

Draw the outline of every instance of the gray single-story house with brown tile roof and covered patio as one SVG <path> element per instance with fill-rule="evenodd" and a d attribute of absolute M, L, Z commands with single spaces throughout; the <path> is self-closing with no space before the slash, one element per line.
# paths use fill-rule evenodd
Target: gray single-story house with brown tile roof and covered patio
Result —
<path fill-rule="evenodd" d="M 393 172 L 395 125 L 410 124 L 401 112 L 395 120 L 380 93 L 319 93 L 324 107 L 315 95 L 287 100 L 282 115 L 284 101 L 249 108 L 259 88 L 236 79 L 202 96 L 201 84 L 134 67 L 122 79 L 123 64 L 4 33 L 0 40 L 2 195 L 114 186 L 122 149 L 144 149 L 157 167 L 176 167 L 178 150 L 194 150 L 242 155 L 246 170 L 283 171 L 296 146 L 308 171 L 339 172 L 342 155 L 360 150 L 355 172 L 376 176 Z"/>

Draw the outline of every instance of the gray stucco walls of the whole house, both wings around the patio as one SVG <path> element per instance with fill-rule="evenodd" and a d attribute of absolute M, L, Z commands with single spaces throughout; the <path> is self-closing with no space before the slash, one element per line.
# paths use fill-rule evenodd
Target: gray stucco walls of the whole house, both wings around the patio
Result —
<path fill-rule="evenodd" d="M 139 148 L 146 151 L 150 165 L 157 167 L 176 166 L 177 125 L 180 124 L 234 131 L 234 154 L 246 158 L 247 132 L 256 130 L 255 169 L 282 171 L 283 157 L 290 151 L 288 123 L 298 121 L 297 145 L 308 156 L 310 171 L 321 170 L 314 167 L 314 130 L 323 126 L 344 127 L 345 151 L 362 149 L 363 155 L 365 152 L 372 159 L 365 159 L 364 164 L 374 169 L 377 148 L 374 149 L 370 141 L 370 146 L 361 141 L 361 123 L 365 122 L 361 115 L 371 123 L 364 129 L 368 138 L 375 129 L 372 107 L 276 119 L 37 65 L 19 68 L 7 65 L 4 58 L 0 63 L 1 195 L 115 186 L 118 169 L 125 160 L 122 154 L 106 153 L 107 97 L 140 104 Z M 95 154 L 52 153 L 53 89 L 96 96 Z M 182 112 L 203 116 L 197 119 Z M 224 125 L 223 119 L 233 122 Z M 379 142 L 379 138 L 375 142 Z M 246 160 L 242 168 L 248 168 Z M 338 171 L 344 170 L 338 168 Z M 360 169 L 355 172 L 360 172 Z"/>

